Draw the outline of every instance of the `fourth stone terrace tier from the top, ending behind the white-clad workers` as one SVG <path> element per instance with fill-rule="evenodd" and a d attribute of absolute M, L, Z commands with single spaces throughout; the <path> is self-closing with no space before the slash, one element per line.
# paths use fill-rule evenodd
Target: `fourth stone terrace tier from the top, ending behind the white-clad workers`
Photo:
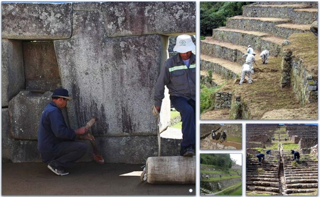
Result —
<path fill-rule="evenodd" d="M 244 64 L 245 59 L 242 56 L 247 53 L 244 46 L 213 40 L 212 37 L 201 40 L 200 51 L 201 54 L 237 62 L 240 65 Z M 259 51 L 256 53 L 260 54 Z"/>

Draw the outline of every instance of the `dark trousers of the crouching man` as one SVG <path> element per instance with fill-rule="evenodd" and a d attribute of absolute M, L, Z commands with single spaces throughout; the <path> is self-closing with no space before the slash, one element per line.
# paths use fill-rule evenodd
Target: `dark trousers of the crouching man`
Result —
<path fill-rule="evenodd" d="M 58 170 L 70 167 L 84 156 L 88 146 L 81 142 L 60 142 L 54 148 L 55 154 L 41 154 L 42 160 Z"/>

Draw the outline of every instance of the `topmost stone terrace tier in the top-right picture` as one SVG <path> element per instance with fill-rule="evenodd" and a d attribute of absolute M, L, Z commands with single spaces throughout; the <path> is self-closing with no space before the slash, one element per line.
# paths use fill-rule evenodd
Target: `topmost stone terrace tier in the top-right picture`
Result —
<path fill-rule="evenodd" d="M 246 5 L 242 13 L 244 17 L 289 18 L 298 24 L 308 24 L 317 18 L 317 9 L 308 4 Z"/>

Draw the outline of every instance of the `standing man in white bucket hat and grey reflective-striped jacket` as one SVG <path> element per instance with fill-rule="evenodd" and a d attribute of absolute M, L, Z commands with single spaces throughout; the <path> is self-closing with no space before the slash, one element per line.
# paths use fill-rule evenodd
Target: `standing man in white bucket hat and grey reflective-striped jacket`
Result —
<path fill-rule="evenodd" d="M 190 35 L 179 35 L 173 51 L 178 53 L 167 59 L 158 77 L 153 114 L 159 115 L 164 86 L 169 89 L 173 107 L 182 119 L 181 156 L 193 156 L 196 150 L 196 50 Z"/>

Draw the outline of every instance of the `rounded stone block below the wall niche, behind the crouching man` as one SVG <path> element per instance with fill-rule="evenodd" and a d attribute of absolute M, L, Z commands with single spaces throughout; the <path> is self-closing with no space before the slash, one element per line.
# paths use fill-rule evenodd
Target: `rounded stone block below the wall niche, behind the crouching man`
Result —
<path fill-rule="evenodd" d="M 10 130 L 12 137 L 23 140 L 36 140 L 41 114 L 51 101 L 52 92 L 36 94 L 21 91 L 9 102 Z"/>

